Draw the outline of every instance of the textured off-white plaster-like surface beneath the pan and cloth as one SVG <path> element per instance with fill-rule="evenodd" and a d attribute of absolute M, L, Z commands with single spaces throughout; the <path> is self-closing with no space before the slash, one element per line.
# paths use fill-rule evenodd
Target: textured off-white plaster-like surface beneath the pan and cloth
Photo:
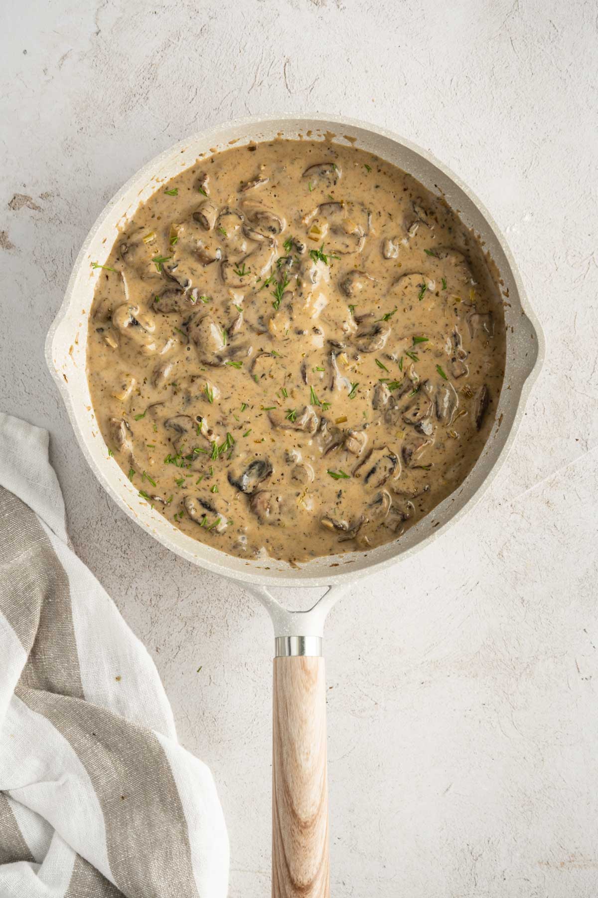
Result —
<path fill-rule="evenodd" d="M 459 172 L 507 234 L 548 340 L 481 505 L 330 618 L 333 894 L 595 898 L 598 7 L 4 11 L 0 408 L 49 428 L 74 545 L 150 648 L 183 743 L 212 766 L 230 895 L 269 894 L 270 623 L 102 492 L 42 348 L 83 237 L 142 163 L 224 119 L 317 110 L 392 128 Z"/>

